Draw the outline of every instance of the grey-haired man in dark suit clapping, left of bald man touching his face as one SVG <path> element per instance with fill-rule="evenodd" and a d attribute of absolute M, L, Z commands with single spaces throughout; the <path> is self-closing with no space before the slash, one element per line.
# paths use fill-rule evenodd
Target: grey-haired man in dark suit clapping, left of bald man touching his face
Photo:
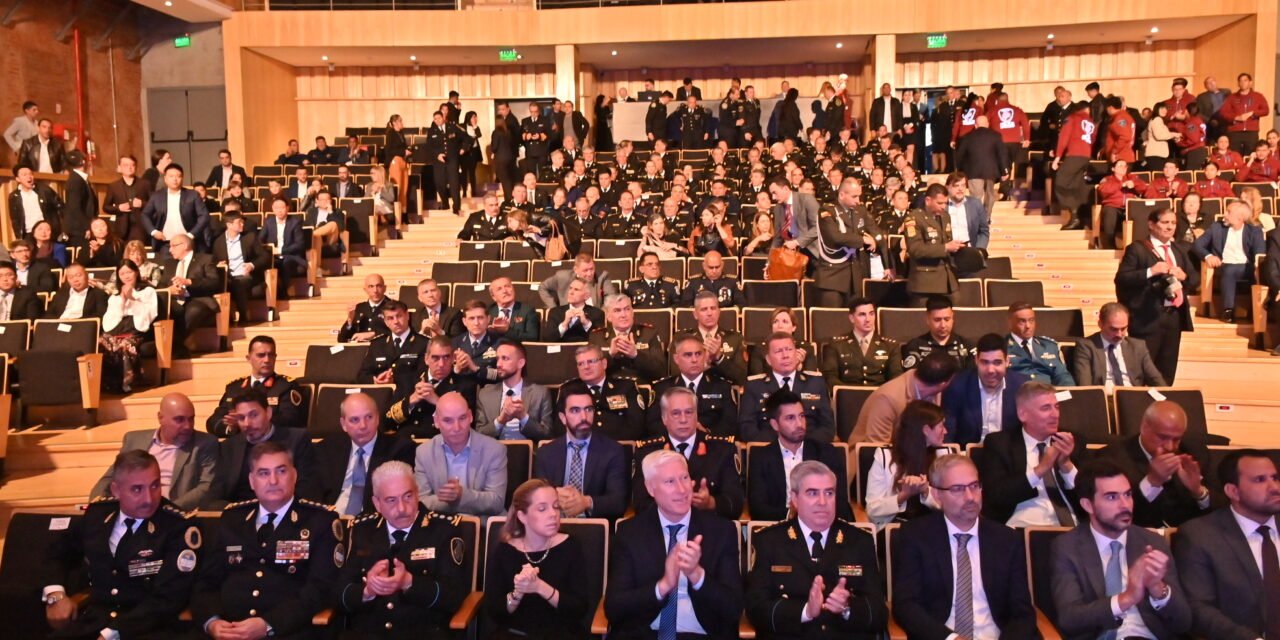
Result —
<path fill-rule="evenodd" d="M 1018 390 L 1021 429 L 996 431 L 983 440 L 983 515 L 1014 527 L 1075 526 L 1075 460 L 1084 442 L 1061 431 L 1057 392 L 1029 381 Z"/>

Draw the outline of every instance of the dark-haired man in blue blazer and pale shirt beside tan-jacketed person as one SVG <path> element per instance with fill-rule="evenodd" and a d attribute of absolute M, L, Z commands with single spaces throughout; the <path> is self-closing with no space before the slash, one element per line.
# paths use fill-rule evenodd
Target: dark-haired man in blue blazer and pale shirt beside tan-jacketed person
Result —
<path fill-rule="evenodd" d="M 988 333 L 978 338 L 974 349 L 978 365 L 961 370 L 942 392 L 947 412 L 947 442 L 961 448 L 1005 430 L 1016 430 L 1018 389 L 1029 380 L 1009 370 L 1009 352 L 1002 335 Z"/>

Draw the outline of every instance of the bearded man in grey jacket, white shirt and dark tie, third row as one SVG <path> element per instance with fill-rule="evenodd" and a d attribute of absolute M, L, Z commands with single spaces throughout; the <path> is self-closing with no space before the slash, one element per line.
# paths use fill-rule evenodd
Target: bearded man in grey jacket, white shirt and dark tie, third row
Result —
<path fill-rule="evenodd" d="M 552 398 L 525 380 L 525 346 L 502 339 L 495 348 L 498 380 L 476 392 L 476 430 L 499 440 L 543 440 L 552 435 Z"/>

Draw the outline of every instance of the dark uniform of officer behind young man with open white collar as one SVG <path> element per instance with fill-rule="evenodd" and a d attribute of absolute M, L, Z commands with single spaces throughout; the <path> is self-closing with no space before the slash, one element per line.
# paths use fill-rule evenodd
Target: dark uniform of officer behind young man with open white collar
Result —
<path fill-rule="evenodd" d="M 818 442 L 836 439 L 836 415 L 831 410 L 831 392 L 818 371 L 794 371 L 787 383 L 804 406 L 808 435 Z M 753 375 L 742 387 L 742 408 L 739 412 L 739 439 L 742 442 L 771 442 L 777 438 L 769 419 L 764 415 L 764 402 L 778 392 L 778 379 L 772 371 Z"/>

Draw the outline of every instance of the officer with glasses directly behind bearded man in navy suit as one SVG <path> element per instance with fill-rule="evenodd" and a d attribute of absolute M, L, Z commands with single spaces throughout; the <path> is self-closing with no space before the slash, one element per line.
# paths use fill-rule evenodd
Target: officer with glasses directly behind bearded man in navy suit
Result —
<path fill-rule="evenodd" d="M 577 378 L 561 385 L 563 389 L 571 381 L 581 381 L 591 392 L 595 401 L 595 425 L 593 433 L 602 433 L 614 440 L 639 440 L 644 438 L 644 397 L 635 379 L 608 375 L 608 358 L 604 349 L 595 344 L 577 348 L 573 356 L 577 364 Z M 556 392 L 556 406 L 559 407 L 559 390 Z M 557 433 L 564 431 L 559 416 L 556 417 Z"/>

